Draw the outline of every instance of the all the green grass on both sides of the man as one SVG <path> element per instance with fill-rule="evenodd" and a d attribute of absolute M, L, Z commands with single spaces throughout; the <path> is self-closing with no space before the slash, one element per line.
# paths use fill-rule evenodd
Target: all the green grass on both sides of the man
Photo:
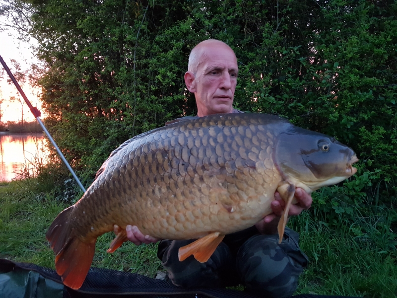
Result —
<path fill-rule="evenodd" d="M 45 233 L 72 203 L 60 199 L 67 184 L 62 188 L 54 185 L 55 180 L 39 177 L 0 183 L 0 258 L 54 268 L 54 253 Z M 385 207 L 371 210 L 353 221 L 341 216 L 336 224 L 329 224 L 324 214 L 308 212 L 291 220 L 289 226 L 300 233 L 301 249 L 310 260 L 296 294 L 397 296 L 397 238 L 392 230 L 396 212 Z M 362 233 L 357 233 L 357 226 Z M 161 270 L 155 244 L 125 243 L 109 254 L 106 249 L 113 236 L 107 233 L 98 238 L 92 266 L 149 277 Z"/>

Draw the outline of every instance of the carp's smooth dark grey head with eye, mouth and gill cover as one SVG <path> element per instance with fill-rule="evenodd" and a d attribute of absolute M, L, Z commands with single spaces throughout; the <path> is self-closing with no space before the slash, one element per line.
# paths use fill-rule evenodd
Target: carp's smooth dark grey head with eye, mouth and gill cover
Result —
<path fill-rule="evenodd" d="M 284 179 L 293 178 L 312 190 L 338 183 L 352 174 L 355 153 L 334 138 L 291 127 L 277 136 L 276 164 Z"/>

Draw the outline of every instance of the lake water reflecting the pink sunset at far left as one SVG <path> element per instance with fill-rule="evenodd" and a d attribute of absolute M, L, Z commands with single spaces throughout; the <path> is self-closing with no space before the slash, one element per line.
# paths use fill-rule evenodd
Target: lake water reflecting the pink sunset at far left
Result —
<path fill-rule="evenodd" d="M 0 181 L 17 179 L 23 168 L 34 167 L 35 160 L 47 163 L 46 142 L 44 134 L 0 135 Z"/>

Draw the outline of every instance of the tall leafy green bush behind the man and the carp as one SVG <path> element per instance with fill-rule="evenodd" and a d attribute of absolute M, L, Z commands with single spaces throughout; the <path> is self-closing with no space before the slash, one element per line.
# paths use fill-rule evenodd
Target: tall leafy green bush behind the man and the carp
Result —
<path fill-rule="evenodd" d="M 39 81 L 46 124 L 80 171 L 93 175 L 132 136 L 195 115 L 183 81 L 188 56 L 200 41 L 216 38 L 238 58 L 235 107 L 278 114 L 348 144 L 360 159 L 358 172 L 327 192 L 362 208 L 372 198 L 395 207 L 396 1 L 14 5 L 32 11 L 29 32 L 46 67 Z M 334 216 L 349 214 L 339 201 L 325 207 Z"/>

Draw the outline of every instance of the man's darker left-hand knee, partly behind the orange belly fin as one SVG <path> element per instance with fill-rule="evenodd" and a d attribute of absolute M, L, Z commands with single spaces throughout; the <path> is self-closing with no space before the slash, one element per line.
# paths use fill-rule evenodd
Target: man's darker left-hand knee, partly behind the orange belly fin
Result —
<path fill-rule="evenodd" d="M 234 261 L 226 244 L 221 242 L 205 263 L 193 256 L 180 262 L 178 250 L 194 240 L 163 240 L 159 244 L 158 257 L 176 286 L 183 288 L 214 288 L 224 286 L 224 273 L 233 270 Z"/>

